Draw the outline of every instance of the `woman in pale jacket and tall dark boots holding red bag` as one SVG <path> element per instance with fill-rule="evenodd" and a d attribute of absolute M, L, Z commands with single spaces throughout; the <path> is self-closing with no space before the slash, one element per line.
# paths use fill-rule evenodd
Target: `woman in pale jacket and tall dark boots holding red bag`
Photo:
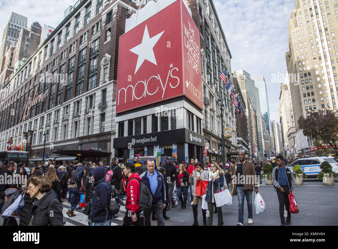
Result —
<path fill-rule="evenodd" d="M 194 215 L 194 223 L 193 226 L 198 226 L 197 217 L 198 217 L 198 202 L 200 201 L 202 204 L 202 196 L 207 188 L 207 181 L 208 181 L 208 171 L 204 170 L 203 165 L 200 162 L 195 164 L 195 170 L 189 176 L 189 182 L 192 184 L 192 191 L 193 191 L 193 204 L 192 204 L 192 211 Z M 202 209 L 203 215 L 203 226 L 207 225 L 207 210 Z"/>

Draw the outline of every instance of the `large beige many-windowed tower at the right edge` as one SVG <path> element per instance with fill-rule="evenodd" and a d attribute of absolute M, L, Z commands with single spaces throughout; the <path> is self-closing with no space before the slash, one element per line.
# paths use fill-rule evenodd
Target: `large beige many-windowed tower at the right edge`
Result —
<path fill-rule="evenodd" d="M 297 120 L 315 109 L 337 109 L 338 78 L 336 1 L 295 1 L 289 20 L 289 51 L 286 63 L 290 81 L 291 99 L 294 107 L 295 153 L 307 153 L 313 141 L 303 135 Z"/>

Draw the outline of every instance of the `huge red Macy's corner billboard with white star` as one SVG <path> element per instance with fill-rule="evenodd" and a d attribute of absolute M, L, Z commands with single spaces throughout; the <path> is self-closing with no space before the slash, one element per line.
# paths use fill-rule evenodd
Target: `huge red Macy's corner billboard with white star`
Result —
<path fill-rule="evenodd" d="M 116 113 L 186 96 L 201 110 L 199 31 L 177 0 L 120 37 Z"/>

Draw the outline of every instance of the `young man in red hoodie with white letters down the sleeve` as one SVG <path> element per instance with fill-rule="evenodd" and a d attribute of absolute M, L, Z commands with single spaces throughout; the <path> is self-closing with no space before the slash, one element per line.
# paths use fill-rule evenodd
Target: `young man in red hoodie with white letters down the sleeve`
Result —
<path fill-rule="evenodd" d="M 139 207 L 139 192 L 141 178 L 135 171 L 135 164 L 129 163 L 124 165 L 123 173 L 128 177 L 126 213 L 124 215 L 123 226 L 142 226 Z M 134 178 L 134 179 L 132 179 Z M 136 179 L 135 179 L 136 178 Z"/>

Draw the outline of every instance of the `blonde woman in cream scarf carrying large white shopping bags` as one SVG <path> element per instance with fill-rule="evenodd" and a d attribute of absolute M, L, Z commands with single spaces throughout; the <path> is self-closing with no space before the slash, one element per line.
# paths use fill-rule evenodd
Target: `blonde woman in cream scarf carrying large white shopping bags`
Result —
<path fill-rule="evenodd" d="M 218 190 L 221 190 L 223 186 L 224 186 L 224 172 L 219 167 L 217 162 L 212 161 L 210 165 L 208 188 L 206 191 L 206 199 L 205 199 L 206 202 L 208 202 L 208 210 L 209 210 L 208 226 L 212 226 L 214 203 L 216 203 L 214 194 L 216 194 Z M 225 186 L 225 189 L 227 189 L 227 186 Z M 218 216 L 218 226 L 223 226 L 222 208 L 216 207 L 216 209 Z"/>

